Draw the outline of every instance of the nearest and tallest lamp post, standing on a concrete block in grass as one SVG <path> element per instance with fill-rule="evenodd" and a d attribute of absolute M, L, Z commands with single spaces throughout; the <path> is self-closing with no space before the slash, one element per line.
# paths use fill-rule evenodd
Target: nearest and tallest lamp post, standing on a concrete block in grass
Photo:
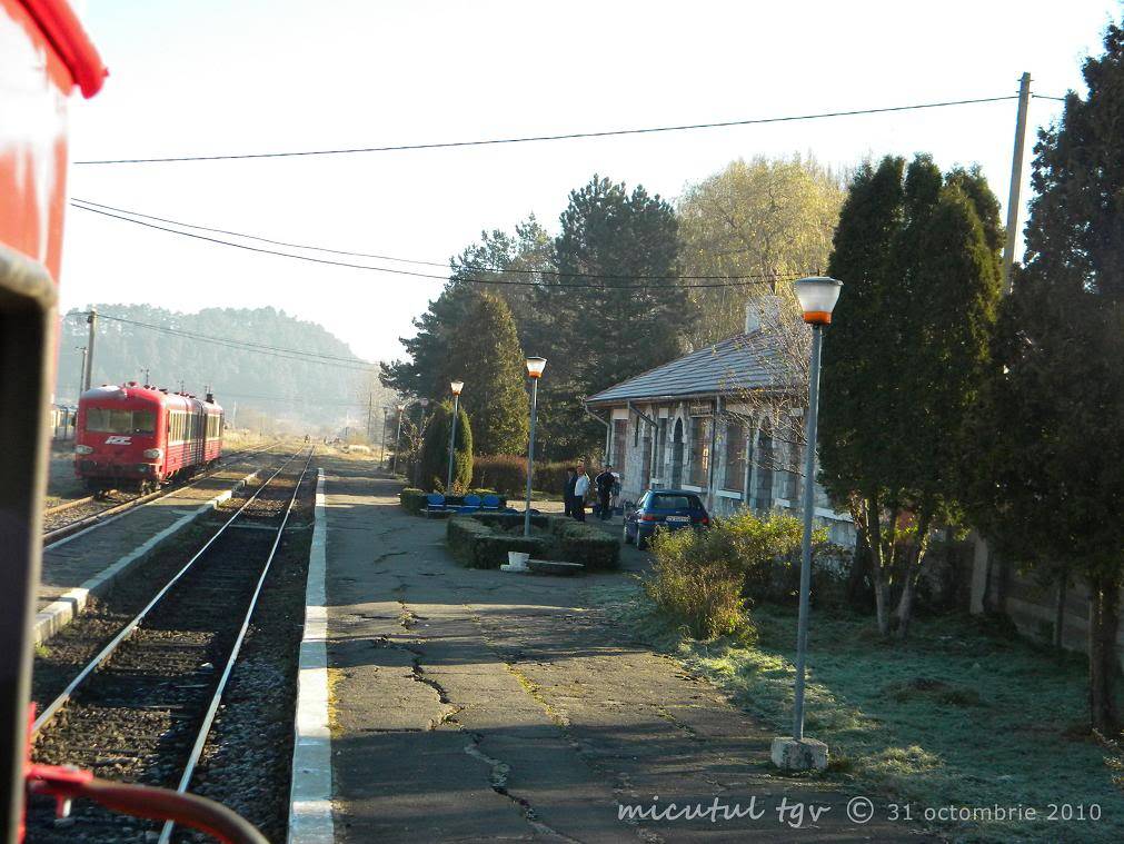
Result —
<path fill-rule="evenodd" d="M 832 310 L 843 282 L 815 276 L 796 282 L 796 297 L 804 310 L 804 321 L 812 326 L 812 369 L 808 373 L 808 423 L 804 451 L 804 539 L 800 543 L 800 614 L 796 634 L 796 693 L 792 707 L 791 738 L 773 741 L 773 763 L 780 768 L 807 770 L 827 766 L 827 745 L 804 737 L 804 691 L 808 652 L 808 599 L 812 591 L 812 533 L 816 490 L 816 429 L 819 416 L 819 359 L 824 326 L 831 325 Z"/>

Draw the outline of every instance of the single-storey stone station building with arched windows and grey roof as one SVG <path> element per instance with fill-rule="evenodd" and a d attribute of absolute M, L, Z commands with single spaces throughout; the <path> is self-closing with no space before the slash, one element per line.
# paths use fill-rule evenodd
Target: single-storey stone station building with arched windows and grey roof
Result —
<path fill-rule="evenodd" d="M 779 302 L 746 307 L 744 332 L 640 373 L 586 399 L 606 426 L 607 462 L 622 500 L 646 489 L 698 492 L 716 515 L 738 508 L 800 512 L 807 382 L 790 361 Z M 789 332 L 788 335 L 783 334 Z M 816 520 L 854 544 L 850 514 L 819 484 Z"/>

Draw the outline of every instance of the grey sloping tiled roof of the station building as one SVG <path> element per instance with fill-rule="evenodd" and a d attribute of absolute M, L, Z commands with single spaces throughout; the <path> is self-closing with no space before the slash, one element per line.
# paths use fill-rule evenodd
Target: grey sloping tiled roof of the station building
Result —
<path fill-rule="evenodd" d="M 685 357 L 643 372 L 586 399 L 611 405 L 641 399 L 723 393 L 747 389 L 785 389 L 796 384 L 781 350 L 767 332 L 738 334 Z"/>

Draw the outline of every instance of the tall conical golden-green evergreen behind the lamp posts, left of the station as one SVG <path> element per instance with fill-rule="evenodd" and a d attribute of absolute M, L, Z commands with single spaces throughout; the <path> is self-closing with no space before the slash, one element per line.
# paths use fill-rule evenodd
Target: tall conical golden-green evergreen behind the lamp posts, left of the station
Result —
<path fill-rule="evenodd" d="M 461 407 L 473 419 L 478 454 L 523 454 L 527 450 L 524 360 L 507 303 L 491 293 L 475 293 L 464 319 L 452 332 L 445 371 L 450 380 L 464 381 Z"/>

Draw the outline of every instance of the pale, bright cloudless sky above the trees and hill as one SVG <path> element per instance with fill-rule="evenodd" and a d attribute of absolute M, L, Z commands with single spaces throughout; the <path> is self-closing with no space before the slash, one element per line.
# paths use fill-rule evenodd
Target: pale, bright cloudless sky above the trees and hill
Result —
<path fill-rule="evenodd" d="M 474 140 L 1000 97 L 1017 91 L 1023 71 L 1035 93 L 1061 96 L 1084 92 L 1081 60 L 1102 52 L 1104 27 L 1124 15 L 1117 0 L 87 0 L 75 7 L 110 78 L 92 100 L 74 99 L 74 162 Z M 729 161 L 755 155 L 812 154 L 853 167 L 867 156 L 927 152 L 943 169 L 979 164 L 1006 207 L 1015 112 L 1008 100 L 455 149 L 72 164 L 70 193 L 272 239 L 446 262 L 481 230 L 510 230 L 529 214 L 556 230 L 568 193 L 595 173 L 673 200 Z M 1032 131 L 1059 114 L 1060 103 L 1032 100 Z M 1033 135 L 1024 201 L 1032 146 Z M 413 335 L 411 320 L 442 288 L 439 280 L 255 254 L 73 208 L 64 248 L 64 309 L 269 305 L 319 323 L 368 360 L 401 357 L 399 337 Z"/>

